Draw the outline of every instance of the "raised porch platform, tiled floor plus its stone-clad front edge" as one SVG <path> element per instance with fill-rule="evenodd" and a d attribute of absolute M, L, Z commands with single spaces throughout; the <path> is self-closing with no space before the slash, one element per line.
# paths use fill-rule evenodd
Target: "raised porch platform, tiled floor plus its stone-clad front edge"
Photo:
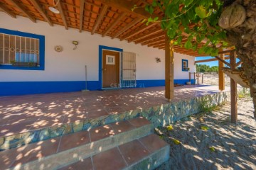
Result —
<path fill-rule="evenodd" d="M 168 125 L 198 113 L 202 104 L 228 101 L 228 91 L 228 87 L 219 91 L 218 86 L 178 86 L 171 102 L 164 97 L 164 86 L 1 97 L 0 147 L 9 149 L 138 116 L 155 127 Z"/>

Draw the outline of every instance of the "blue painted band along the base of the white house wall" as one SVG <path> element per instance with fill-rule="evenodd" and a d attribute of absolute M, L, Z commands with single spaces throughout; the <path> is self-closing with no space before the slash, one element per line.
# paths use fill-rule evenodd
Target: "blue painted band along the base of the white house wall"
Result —
<path fill-rule="evenodd" d="M 174 84 L 186 84 L 188 79 L 175 79 Z M 193 84 L 194 81 L 192 80 Z M 136 87 L 164 86 L 164 79 L 137 80 Z M 134 85 L 131 85 L 135 87 Z M 124 87 L 125 88 L 125 87 Z M 48 94 L 58 92 L 82 91 L 85 89 L 85 81 L 23 81 L 0 82 L 0 96 L 16 96 L 26 94 Z M 87 89 L 100 90 L 101 81 L 87 81 Z"/>

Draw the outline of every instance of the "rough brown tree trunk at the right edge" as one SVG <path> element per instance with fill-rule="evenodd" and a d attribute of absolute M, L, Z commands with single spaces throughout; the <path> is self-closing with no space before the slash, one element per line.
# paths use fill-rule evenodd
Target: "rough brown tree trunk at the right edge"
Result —
<path fill-rule="evenodd" d="M 245 8 L 246 18 L 240 26 L 227 30 L 228 42 L 235 45 L 238 58 L 242 61 L 256 111 L 256 0 L 237 0 L 233 3 Z"/>

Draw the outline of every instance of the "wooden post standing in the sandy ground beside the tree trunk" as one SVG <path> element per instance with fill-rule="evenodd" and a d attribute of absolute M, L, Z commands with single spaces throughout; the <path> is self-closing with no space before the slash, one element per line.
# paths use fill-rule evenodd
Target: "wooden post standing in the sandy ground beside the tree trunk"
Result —
<path fill-rule="evenodd" d="M 235 69 L 235 52 L 230 52 L 230 68 Z M 230 96 L 231 96 L 231 123 L 238 122 L 238 98 L 237 84 L 234 79 L 230 78 Z"/>

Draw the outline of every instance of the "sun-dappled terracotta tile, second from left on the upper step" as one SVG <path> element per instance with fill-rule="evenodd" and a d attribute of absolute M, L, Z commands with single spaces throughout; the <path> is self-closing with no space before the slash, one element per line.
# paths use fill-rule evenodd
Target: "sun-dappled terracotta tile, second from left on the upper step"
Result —
<path fill-rule="evenodd" d="M 59 142 L 60 137 L 56 137 L 54 139 L 44 140 L 17 148 L 18 156 L 16 157 L 14 164 L 11 166 L 26 164 L 26 162 L 31 162 L 50 154 L 55 154 L 57 152 Z"/>

